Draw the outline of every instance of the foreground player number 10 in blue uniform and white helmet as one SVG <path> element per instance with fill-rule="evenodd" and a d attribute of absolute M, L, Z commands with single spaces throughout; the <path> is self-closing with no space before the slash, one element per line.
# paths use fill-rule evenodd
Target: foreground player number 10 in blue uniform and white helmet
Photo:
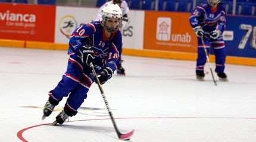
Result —
<path fill-rule="evenodd" d="M 43 108 L 48 117 L 64 96 L 68 96 L 64 110 L 57 115 L 55 124 L 63 124 L 87 97 L 95 76 L 89 67 L 93 63 L 101 84 L 111 78 L 120 61 L 122 37 L 119 31 L 122 20 L 120 7 L 115 4 L 102 9 L 102 21 L 84 24 L 77 28 L 69 41 L 67 71 L 58 85 L 49 92 Z"/>

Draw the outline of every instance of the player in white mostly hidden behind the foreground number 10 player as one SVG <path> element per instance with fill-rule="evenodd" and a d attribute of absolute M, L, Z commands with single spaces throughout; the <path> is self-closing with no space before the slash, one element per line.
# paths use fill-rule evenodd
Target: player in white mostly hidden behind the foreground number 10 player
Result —
<path fill-rule="evenodd" d="M 121 11 L 122 11 L 122 14 L 123 14 L 123 21 L 125 22 L 125 24 L 129 24 L 130 20 L 128 18 L 128 12 L 129 12 L 129 7 L 128 7 L 128 4 L 126 1 L 122 1 L 122 0 L 112 0 L 112 1 L 108 1 L 106 2 L 104 5 L 102 5 L 100 8 L 99 8 L 99 11 L 98 11 L 98 14 L 95 18 L 95 21 L 101 21 L 102 19 L 102 9 L 104 7 L 106 7 L 107 5 L 109 4 L 118 4 L 119 7 L 121 8 Z M 121 52 L 122 52 L 122 49 L 120 50 L 120 56 L 121 56 Z M 121 60 L 121 59 L 120 59 Z M 121 60 L 121 62 L 123 62 L 123 60 Z M 121 66 L 121 62 L 118 64 L 118 67 L 117 67 L 117 74 L 118 75 L 125 75 L 125 70 L 124 68 Z"/>

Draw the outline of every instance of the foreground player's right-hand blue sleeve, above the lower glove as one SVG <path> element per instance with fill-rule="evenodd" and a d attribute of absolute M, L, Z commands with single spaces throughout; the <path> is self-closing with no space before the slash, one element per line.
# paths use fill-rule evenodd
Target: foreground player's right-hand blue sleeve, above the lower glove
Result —
<path fill-rule="evenodd" d="M 110 44 L 107 67 L 110 67 L 113 72 L 117 69 L 117 65 L 120 62 L 121 56 L 121 47 L 122 47 L 122 37 L 120 31 L 115 35 L 113 42 Z"/>

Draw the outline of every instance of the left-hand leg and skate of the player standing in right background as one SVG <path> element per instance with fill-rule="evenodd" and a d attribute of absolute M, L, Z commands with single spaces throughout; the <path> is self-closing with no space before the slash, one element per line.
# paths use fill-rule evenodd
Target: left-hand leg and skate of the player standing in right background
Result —
<path fill-rule="evenodd" d="M 210 51 L 209 41 L 205 39 L 204 41 L 207 52 Z M 196 79 L 204 80 L 204 64 L 206 63 L 206 55 L 204 51 L 204 46 L 202 45 L 201 38 L 198 38 L 198 57 L 196 59 Z"/>

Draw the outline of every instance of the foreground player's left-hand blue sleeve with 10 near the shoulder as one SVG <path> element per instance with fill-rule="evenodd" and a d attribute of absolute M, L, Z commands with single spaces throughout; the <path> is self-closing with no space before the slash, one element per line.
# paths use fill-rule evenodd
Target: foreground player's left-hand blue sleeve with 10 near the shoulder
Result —
<path fill-rule="evenodd" d="M 96 28 L 91 23 L 83 24 L 77 28 L 70 38 L 68 54 L 77 53 L 81 47 L 89 44 L 89 37 L 94 34 L 95 31 Z"/>

